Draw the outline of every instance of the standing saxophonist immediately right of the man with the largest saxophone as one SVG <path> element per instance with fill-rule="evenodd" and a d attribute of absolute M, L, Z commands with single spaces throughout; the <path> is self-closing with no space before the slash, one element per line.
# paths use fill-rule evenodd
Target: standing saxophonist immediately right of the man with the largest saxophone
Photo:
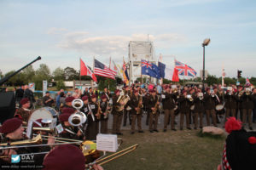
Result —
<path fill-rule="evenodd" d="M 134 95 L 131 98 L 131 134 L 135 132 L 135 123 L 137 119 L 137 128 L 139 133 L 143 133 L 142 130 L 142 112 L 143 112 L 143 98 L 139 96 L 137 90 L 133 91 Z"/>

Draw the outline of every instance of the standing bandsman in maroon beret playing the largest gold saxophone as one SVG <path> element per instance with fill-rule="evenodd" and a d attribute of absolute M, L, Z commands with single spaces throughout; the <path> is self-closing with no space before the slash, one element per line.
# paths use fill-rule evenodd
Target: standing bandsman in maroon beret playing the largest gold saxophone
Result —
<path fill-rule="evenodd" d="M 119 135 L 123 135 L 123 133 L 120 133 L 120 127 L 121 127 L 121 123 L 122 123 L 122 118 L 123 118 L 123 111 L 117 111 L 117 107 L 121 106 L 121 105 L 125 105 L 125 103 L 123 101 L 120 101 L 119 103 L 117 102 L 117 100 L 119 99 L 119 95 L 120 95 L 120 90 L 116 89 L 114 91 L 113 95 L 113 127 L 112 127 L 112 133 L 113 134 L 119 134 Z"/>

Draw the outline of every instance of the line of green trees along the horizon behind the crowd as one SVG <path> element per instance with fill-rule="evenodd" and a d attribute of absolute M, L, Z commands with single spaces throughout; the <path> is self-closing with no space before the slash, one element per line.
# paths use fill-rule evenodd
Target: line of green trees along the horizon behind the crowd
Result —
<path fill-rule="evenodd" d="M 7 77 L 14 72 L 15 71 L 9 71 L 5 75 L 3 75 L 3 73 L 0 71 L 0 77 L 1 78 Z M 72 67 L 66 67 L 65 69 L 58 67 L 51 72 L 49 70 L 48 65 L 45 65 L 45 64 L 39 65 L 39 68 L 37 70 L 35 70 L 32 67 L 32 65 L 29 65 L 28 67 L 26 67 L 26 69 L 16 74 L 15 77 L 11 77 L 8 82 L 5 82 L 5 85 L 21 86 L 24 84 L 28 84 L 29 82 L 35 82 L 36 90 L 42 90 L 43 80 L 47 80 L 48 82 L 54 82 L 54 86 L 56 86 L 57 89 L 61 89 L 61 88 L 65 88 L 64 81 L 79 80 L 79 75 L 80 75 L 80 71 L 76 71 Z M 91 78 L 87 76 L 83 76 L 81 77 L 81 80 L 90 81 Z M 104 87 L 109 87 L 110 90 L 114 90 L 117 84 L 123 83 L 120 78 L 116 78 L 116 80 L 113 80 L 106 77 L 97 77 L 97 80 L 98 80 L 98 87 L 100 90 L 102 90 Z M 208 85 L 221 84 L 221 80 L 222 80 L 221 77 L 208 75 L 206 79 L 206 83 Z M 256 77 L 251 77 L 249 80 L 254 86 L 256 85 Z M 187 82 L 187 81 L 201 82 L 201 77 L 185 80 L 184 82 Z M 236 84 L 236 81 L 237 80 L 235 77 L 224 78 L 224 83 L 227 86 L 230 86 L 231 84 Z M 144 80 L 143 82 L 146 82 L 146 80 Z M 244 85 L 246 83 L 246 78 L 245 77 L 239 78 L 239 82 L 241 85 Z M 170 81 L 165 79 L 164 83 L 170 83 Z M 180 84 L 183 84 L 183 80 L 180 80 Z"/>

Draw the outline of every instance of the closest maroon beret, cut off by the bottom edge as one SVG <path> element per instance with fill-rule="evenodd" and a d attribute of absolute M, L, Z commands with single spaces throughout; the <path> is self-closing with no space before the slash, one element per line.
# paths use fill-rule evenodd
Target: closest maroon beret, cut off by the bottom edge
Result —
<path fill-rule="evenodd" d="M 44 170 L 84 170 L 84 155 L 73 144 L 61 144 L 44 158 Z"/>

